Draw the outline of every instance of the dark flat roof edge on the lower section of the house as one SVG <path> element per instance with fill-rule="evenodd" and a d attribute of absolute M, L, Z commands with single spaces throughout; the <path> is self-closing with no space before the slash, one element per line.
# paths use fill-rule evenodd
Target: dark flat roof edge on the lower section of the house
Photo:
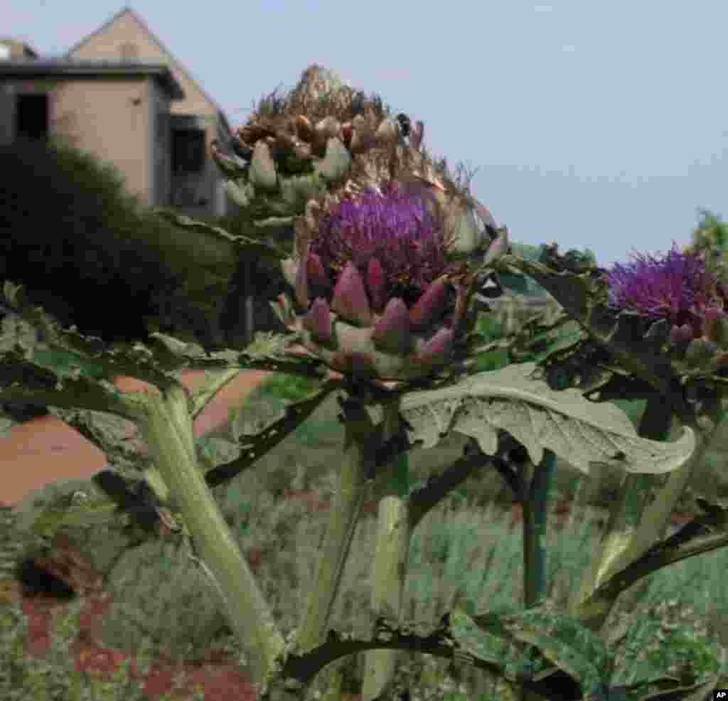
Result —
<path fill-rule="evenodd" d="M 46 78 L 47 76 L 152 76 L 170 98 L 181 100 L 184 92 L 163 63 L 33 59 L 0 61 L 0 78 Z"/>

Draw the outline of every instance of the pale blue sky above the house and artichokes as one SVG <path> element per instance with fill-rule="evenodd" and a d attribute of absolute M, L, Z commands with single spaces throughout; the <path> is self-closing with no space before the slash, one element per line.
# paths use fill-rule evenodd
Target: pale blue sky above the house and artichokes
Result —
<path fill-rule="evenodd" d="M 60 55 L 124 7 L 0 0 L 0 31 Z M 687 245 L 728 216 L 728 3 L 137 0 L 132 9 L 233 126 L 311 63 L 425 123 L 477 169 L 513 241 L 590 248 L 600 266 Z"/>

